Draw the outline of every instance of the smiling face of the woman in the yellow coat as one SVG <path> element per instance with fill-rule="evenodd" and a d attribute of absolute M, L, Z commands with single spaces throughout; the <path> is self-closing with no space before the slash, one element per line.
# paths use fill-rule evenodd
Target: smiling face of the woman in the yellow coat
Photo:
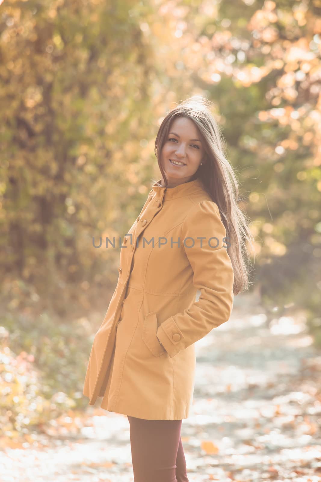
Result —
<path fill-rule="evenodd" d="M 203 162 L 204 146 L 194 122 L 185 117 L 173 120 L 161 152 L 161 165 L 168 178 L 168 187 L 188 182 Z M 179 161 L 183 165 L 175 165 Z M 162 185 L 164 179 L 162 178 Z"/>

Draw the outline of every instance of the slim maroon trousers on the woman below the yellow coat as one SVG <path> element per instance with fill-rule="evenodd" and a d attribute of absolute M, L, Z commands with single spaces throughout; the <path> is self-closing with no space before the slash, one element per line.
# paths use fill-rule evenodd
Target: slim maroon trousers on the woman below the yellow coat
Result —
<path fill-rule="evenodd" d="M 182 421 L 127 417 L 134 482 L 189 482 L 180 437 Z"/>

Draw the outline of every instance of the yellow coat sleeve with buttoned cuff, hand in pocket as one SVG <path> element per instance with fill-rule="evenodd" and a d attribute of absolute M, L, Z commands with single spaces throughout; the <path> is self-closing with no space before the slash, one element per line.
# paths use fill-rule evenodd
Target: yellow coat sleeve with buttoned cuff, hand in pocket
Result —
<path fill-rule="evenodd" d="M 193 206 L 183 222 L 181 237 L 193 269 L 193 284 L 201 295 L 189 308 L 167 318 L 157 328 L 158 341 L 170 358 L 228 321 L 234 299 L 234 274 L 226 249 L 229 243 L 218 205 L 201 201 Z"/>

